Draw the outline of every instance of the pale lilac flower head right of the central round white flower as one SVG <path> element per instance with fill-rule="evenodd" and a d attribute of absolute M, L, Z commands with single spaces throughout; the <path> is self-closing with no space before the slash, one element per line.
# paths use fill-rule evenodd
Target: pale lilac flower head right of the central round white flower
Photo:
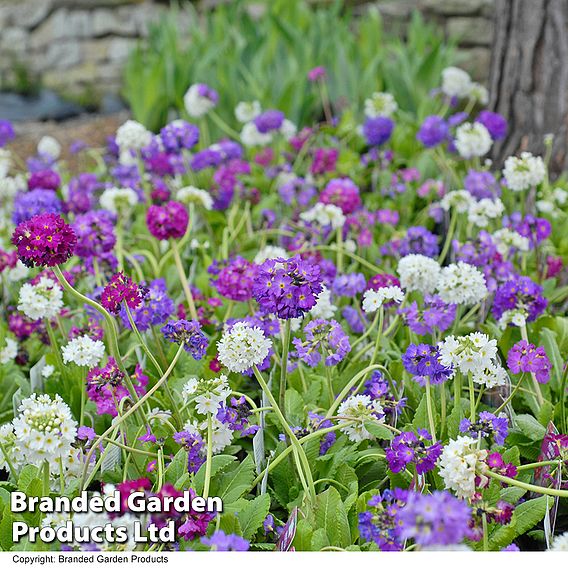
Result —
<path fill-rule="evenodd" d="M 326 355 L 327 367 L 337 365 L 351 351 L 349 338 L 336 320 L 315 319 L 304 328 L 305 341 L 295 337 L 292 340 L 296 348 L 295 356 L 302 359 L 309 367 L 317 367 Z"/>

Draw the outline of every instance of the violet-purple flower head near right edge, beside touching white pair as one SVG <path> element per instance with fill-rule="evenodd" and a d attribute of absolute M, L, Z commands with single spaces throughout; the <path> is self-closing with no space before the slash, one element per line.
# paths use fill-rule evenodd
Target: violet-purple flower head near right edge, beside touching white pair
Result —
<path fill-rule="evenodd" d="M 500 320 L 508 310 L 523 310 L 528 314 L 527 321 L 534 321 L 548 305 L 548 300 L 542 292 L 542 286 L 533 282 L 528 276 L 520 276 L 505 282 L 495 292 L 493 317 Z"/>

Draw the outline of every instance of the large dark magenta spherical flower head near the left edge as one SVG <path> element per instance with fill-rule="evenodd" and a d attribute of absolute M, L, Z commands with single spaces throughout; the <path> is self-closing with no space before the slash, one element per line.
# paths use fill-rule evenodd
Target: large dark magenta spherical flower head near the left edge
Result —
<path fill-rule="evenodd" d="M 20 223 L 12 234 L 18 258 L 27 267 L 56 266 L 73 255 L 77 237 L 59 215 L 42 213 Z"/>

